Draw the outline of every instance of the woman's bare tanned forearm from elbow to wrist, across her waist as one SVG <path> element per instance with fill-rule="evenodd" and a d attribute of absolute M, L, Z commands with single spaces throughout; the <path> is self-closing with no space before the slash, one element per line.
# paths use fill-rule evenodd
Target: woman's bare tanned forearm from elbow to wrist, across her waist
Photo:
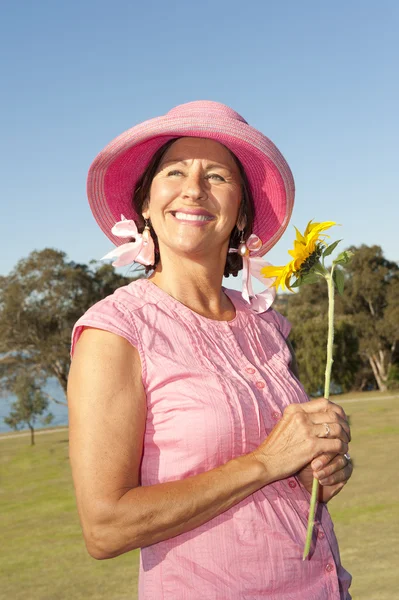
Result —
<path fill-rule="evenodd" d="M 128 490 L 86 537 L 94 558 L 112 558 L 191 531 L 272 479 L 252 454 L 180 481 Z"/>

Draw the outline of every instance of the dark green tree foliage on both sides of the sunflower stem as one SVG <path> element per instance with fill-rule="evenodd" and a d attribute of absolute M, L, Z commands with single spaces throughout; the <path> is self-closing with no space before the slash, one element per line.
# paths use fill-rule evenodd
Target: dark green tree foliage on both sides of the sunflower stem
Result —
<path fill-rule="evenodd" d="M 343 391 L 397 385 L 399 371 L 399 267 L 379 246 L 351 247 L 345 290 L 336 295 L 332 380 Z M 287 316 L 301 381 L 308 393 L 323 389 L 327 340 L 327 286 L 304 285 L 288 297 Z"/>

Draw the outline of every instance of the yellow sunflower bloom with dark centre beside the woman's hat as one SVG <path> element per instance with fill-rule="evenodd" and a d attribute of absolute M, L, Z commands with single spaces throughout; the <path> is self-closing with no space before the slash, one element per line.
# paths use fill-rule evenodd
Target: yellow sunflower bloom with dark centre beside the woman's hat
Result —
<path fill-rule="evenodd" d="M 294 248 L 288 251 L 292 260 L 283 267 L 263 267 L 262 275 L 267 278 L 275 277 L 273 285 L 276 288 L 281 286 L 283 290 L 286 288 L 291 290 L 291 277 L 295 276 L 298 279 L 298 277 L 306 275 L 319 262 L 326 247 L 324 238 L 328 237 L 326 233 L 321 232 L 333 225 L 336 225 L 334 221 L 324 221 L 323 223 L 309 221 L 303 235 L 295 227 Z"/>

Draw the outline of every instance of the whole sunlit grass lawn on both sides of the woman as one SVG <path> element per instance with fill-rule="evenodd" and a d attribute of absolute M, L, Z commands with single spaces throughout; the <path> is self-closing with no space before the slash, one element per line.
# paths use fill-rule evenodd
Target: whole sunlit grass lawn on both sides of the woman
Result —
<path fill-rule="evenodd" d="M 399 396 L 388 396 L 370 392 L 352 401 L 336 398 L 351 417 L 356 468 L 330 512 L 342 562 L 353 575 L 354 600 L 392 600 L 398 594 Z M 67 431 L 37 435 L 36 446 L 29 444 L 22 435 L 0 439 L 0 597 L 134 600 L 138 552 L 95 561 L 85 550 Z"/>

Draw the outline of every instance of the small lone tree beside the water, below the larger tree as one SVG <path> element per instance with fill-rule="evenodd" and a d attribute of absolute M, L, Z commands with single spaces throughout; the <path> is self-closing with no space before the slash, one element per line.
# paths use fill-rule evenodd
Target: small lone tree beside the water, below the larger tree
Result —
<path fill-rule="evenodd" d="M 5 423 L 13 429 L 28 425 L 31 433 L 31 445 L 35 443 L 35 424 L 38 417 L 43 425 L 51 423 L 53 415 L 46 413 L 49 400 L 40 391 L 35 381 L 27 374 L 19 373 L 15 379 L 13 390 L 17 397 L 11 405 L 11 412 L 4 418 Z"/>

